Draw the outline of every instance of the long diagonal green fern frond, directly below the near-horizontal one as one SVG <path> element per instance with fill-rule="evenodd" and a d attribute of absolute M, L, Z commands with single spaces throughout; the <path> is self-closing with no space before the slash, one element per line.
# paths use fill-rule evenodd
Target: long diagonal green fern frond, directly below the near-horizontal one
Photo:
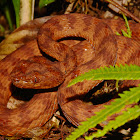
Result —
<path fill-rule="evenodd" d="M 121 98 L 115 99 L 111 105 L 106 105 L 105 109 L 96 112 L 96 115 L 88 118 L 86 122 L 82 122 L 82 125 L 78 126 L 66 140 L 75 140 L 87 132 L 88 129 L 94 128 L 97 124 L 105 121 L 108 116 L 118 113 L 125 105 L 137 103 L 140 99 L 140 87 L 130 88 L 130 91 L 124 91 L 123 94 L 119 95 Z"/>

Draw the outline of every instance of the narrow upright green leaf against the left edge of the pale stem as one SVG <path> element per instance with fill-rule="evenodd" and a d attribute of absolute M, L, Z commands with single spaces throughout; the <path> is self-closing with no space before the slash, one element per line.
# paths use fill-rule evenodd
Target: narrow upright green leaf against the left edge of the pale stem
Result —
<path fill-rule="evenodd" d="M 20 26 L 20 0 L 12 0 L 12 2 L 15 9 L 16 26 L 18 28 Z"/>

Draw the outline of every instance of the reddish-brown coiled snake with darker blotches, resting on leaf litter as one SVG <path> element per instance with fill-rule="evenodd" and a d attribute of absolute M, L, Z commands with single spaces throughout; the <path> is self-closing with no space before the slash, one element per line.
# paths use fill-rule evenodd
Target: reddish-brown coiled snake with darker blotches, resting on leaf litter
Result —
<path fill-rule="evenodd" d="M 40 28 L 38 41 L 28 42 L 3 59 L 0 62 L 0 134 L 24 134 L 27 129 L 42 126 L 57 110 L 58 103 L 67 119 L 76 126 L 102 109 L 103 104 L 88 105 L 81 100 L 101 81 L 83 81 L 69 88 L 67 84 L 75 76 L 101 66 L 120 63 L 140 65 L 140 24 L 130 24 L 133 38 L 129 39 L 113 33 L 124 28 L 124 22 L 119 23 L 119 29 L 117 23 L 83 14 L 56 16 Z M 86 40 L 68 47 L 71 41 L 62 41 L 66 45 L 57 42 L 65 37 Z M 51 62 L 42 57 L 38 46 L 58 61 Z M 11 96 L 10 73 L 14 85 L 21 88 L 44 89 L 62 84 L 57 92 L 35 94 L 23 106 L 10 110 L 6 107 Z M 123 86 L 137 86 L 138 83 L 124 81 Z"/>

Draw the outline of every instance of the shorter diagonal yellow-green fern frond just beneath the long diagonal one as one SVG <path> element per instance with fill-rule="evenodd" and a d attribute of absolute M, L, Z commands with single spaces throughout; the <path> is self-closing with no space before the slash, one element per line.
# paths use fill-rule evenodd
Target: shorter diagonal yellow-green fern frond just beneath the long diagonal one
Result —
<path fill-rule="evenodd" d="M 85 138 L 86 140 L 92 140 L 95 137 L 104 136 L 108 131 L 116 129 L 130 120 L 136 119 L 138 116 L 140 116 L 140 107 L 136 105 L 134 108 L 129 108 L 128 111 L 124 111 L 123 114 L 116 117 L 115 120 L 110 121 L 106 126 L 104 126 L 103 130 L 98 130 L 93 135 Z"/>

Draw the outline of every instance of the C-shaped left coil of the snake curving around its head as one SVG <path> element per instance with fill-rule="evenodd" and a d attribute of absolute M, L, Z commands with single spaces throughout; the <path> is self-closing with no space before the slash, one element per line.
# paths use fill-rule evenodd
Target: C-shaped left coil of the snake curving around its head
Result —
<path fill-rule="evenodd" d="M 16 53 L 18 52 L 18 53 Z M 24 53 L 23 53 L 24 52 Z M 19 55 L 20 54 L 20 55 Z M 41 126 L 53 115 L 53 109 L 57 109 L 56 92 L 35 94 L 35 96 L 23 106 L 17 109 L 8 109 L 7 102 L 12 92 L 10 73 L 15 65 L 22 59 L 27 59 L 34 55 L 40 55 L 37 42 L 31 41 L 29 44 L 19 48 L 14 53 L 0 62 L 0 134 L 13 136 L 24 134 L 27 129 Z M 9 61 L 10 60 L 10 61 Z M 43 101 L 43 100 L 44 101 Z M 47 101 L 48 100 L 48 101 Z M 49 106 L 45 103 L 48 102 Z M 38 106 L 39 105 L 39 106 Z M 52 108 L 52 110 L 50 110 Z M 50 111 L 49 111 L 49 110 Z M 45 113 L 47 112 L 47 113 Z"/>

